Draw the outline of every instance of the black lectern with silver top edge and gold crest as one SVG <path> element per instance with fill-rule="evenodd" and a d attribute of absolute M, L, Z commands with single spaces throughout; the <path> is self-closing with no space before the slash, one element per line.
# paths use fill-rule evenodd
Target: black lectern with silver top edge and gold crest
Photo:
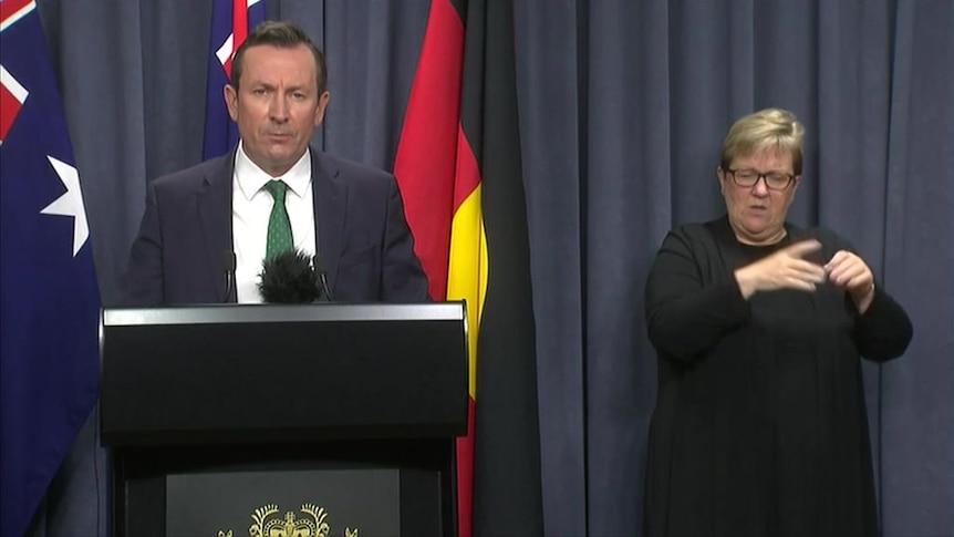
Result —
<path fill-rule="evenodd" d="M 457 534 L 463 302 L 105 309 L 100 338 L 113 535 Z"/>

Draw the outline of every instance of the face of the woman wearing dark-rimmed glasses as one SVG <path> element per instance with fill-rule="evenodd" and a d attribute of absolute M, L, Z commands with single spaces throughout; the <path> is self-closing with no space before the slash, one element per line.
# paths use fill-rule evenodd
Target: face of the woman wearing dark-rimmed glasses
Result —
<path fill-rule="evenodd" d="M 743 175 L 780 173 L 794 176 L 784 189 L 769 188 L 759 176 L 753 186 L 739 186 L 734 173 Z M 771 245 L 785 237 L 785 218 L 795 200 L 801 176 L 795 176 L 791 153 L 769 151 L 737 156 L 728 169 L 718 169 L 729 224 L 736 238 L 747 245 Z M 778 186 L 778 185 L 776 185 Z"/>

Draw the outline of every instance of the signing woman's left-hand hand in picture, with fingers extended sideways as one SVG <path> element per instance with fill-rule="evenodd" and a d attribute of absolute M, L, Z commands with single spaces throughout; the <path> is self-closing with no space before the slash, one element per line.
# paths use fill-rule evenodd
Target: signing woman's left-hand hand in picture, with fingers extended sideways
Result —
<path fill-rule="evenodd" d="M 802 240 L 735 271 L 742 296 L 748 299 L 756 291 L 799 289 L 815 291 L 825 282 L 821 265 L 805 259 L 821 249 L 817 240 Z"/>

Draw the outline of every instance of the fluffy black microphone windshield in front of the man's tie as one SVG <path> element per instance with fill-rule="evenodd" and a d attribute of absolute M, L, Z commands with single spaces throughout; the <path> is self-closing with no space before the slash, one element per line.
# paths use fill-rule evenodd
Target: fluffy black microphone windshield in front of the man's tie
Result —
<path fill-rule="evenodd" d="M 266 302 L 311 303 L 321 296 L 311 260 L 301 250 L 288 250 L 266 259 L 259 276 L 258 290 Z"/>

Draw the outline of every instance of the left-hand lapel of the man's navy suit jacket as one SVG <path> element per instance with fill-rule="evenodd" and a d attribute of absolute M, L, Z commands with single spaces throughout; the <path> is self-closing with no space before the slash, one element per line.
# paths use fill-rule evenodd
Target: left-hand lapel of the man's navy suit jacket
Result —
<path fill-rule="evenodd" d="M 231 184 L 235 151 L 220 157 L 220 162 L 204 177 L 196 205 L 205 239 L 206 272 L 214 282 L 219 302 L 234 302 L 226 297 L 225 255 L 232 248 Z"/>

